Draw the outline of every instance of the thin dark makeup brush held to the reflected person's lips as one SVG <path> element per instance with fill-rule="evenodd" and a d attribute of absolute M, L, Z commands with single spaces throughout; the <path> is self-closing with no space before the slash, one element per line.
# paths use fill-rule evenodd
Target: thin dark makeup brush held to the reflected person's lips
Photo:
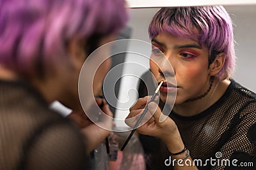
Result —
<path fill-rule="evenodd" d="M 154 99 L 156 98 L 156 96 L 157 96 L 157 94 L 158 94 L 158 91 L 159 91 L 161 85 L 163 84 L 163 82 L 164 82 L 164 81 L 161 81 L 161 83 L 159 83 L 159 85 L 158 85 L 158 87 L 157 87 L 157 89 L 156 89 L 154 95 L 152 96 L 152 98 L 150 99 L 150 101 L 149 101 L 148 103 L 154 101 Z M 148 111 L 148 103 L 146 104 L 145 110 L 144 110 L 143 113 L 141 114 L 141 116 L 140 116 L 138 122 L 136 122 L 136 124 L 134 125 L 134 128 L 133 128 L 132 131 L 131 131 L 131 134 L 128 136 L 128 138 L 126 139 L 124 145 L 122 146 L 121 151 L 124 150 L 125 146 L 126 146 L 127 143 L 129 142 L 129 140 L 132 138 L 132 134 L 134 134 L 134 132 L 135 132 L 136 129 L 138 128 L 138 126 L 139 126 L 139 124 L 140 124 L 142 118 L 146 115 L 146 113 L 147 113 L 147 111 Z"/>

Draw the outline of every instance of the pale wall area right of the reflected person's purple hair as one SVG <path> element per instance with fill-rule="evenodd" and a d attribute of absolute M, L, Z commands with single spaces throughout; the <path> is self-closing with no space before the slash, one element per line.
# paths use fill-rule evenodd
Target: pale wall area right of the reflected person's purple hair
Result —
<path fill-rule="evenodd" d="M 236 72 L 234 79 L 256 92 L 256 5 L 228 6 L 234 22 L 236 40 Z"/>

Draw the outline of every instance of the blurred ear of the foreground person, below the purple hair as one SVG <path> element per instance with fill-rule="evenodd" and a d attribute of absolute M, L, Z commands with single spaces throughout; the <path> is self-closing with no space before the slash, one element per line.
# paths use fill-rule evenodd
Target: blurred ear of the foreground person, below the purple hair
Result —
<path fill-rule="evenodd" d="M 68 60 L 70 61 L 71 67 L 74 69 L 81 69 L 86 59 L 84 44 L 85 41 L 79 41 L 77 38 L 72 38 L 68 41 Z"/>

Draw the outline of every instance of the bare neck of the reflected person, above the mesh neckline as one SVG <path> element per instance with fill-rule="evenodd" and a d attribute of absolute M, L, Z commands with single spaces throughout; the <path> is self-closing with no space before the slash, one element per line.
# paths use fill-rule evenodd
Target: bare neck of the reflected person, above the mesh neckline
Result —
<path fill-rule="evenodd" d="M 212 104 L 216 103 L 221 96 L 225 93 L 230 84 L 229 80 L 218 80 L 214 79 L 212 84 L 212 89 L 209 91 L 209 94 L 204 98 L 193 101 L 193 102 L 184 102 L 182 104 L 173 106 L 173 111 L 180 116 L 191 117 L 198 115 L 202 111 L 207 110 Z"/>

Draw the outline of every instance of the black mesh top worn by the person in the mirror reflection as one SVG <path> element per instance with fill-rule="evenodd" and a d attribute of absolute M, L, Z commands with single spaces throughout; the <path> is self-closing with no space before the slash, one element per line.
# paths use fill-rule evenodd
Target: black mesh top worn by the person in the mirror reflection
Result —
<path fill-rule="evenodd" d="M 149 75 L 146 80 L 150 80 Z M 144 86 L 141 82 L 140 97 L 147 94 Z M 256 169 L 256 95 L 236 81 L 231 80 L 225 94 L 202 113 L 182 117 L 172 112 L 170 117 L 177 124 L 191 158 L 202 159 L 202 165 L 205 164 L 199 169 Z M 170 169 L 164 165 L 170 156 L 166 146 L 154 137 L 140 135 L 140 139 L 147 169 Z M 215 159 L 212 164 L 205 163 L 211 158 Z M 228 160 L 225 163 L 224 159 L 230 160 L 230 166 L 225 166 Z M 238 160 L 234 161 L 236 168 L 232 166 L 234 159 Z"/>

